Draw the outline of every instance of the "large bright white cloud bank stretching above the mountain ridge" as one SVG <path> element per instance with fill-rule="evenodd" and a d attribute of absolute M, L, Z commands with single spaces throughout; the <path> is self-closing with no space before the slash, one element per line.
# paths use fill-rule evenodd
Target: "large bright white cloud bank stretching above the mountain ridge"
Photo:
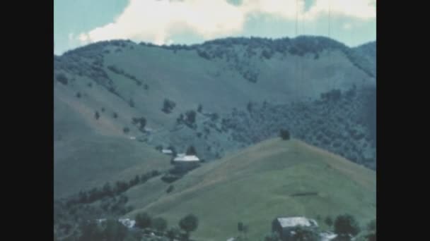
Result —
<path fill-rule="evenodd" d="M 349 16 L 362 20 L 376 17 L 376 0 L 315 0 L 304 11 L 304 0 L 243 0 L 240 5 L 226 0 L 130 0 L 115 21 L 81 33 L 82 43 L 108 39 L 167 44 L 174 35 L 192 32 L 203 39 L 226 37 L 243 31 L 246 20 L 262 13 L 296 20 L 315 20 L 327 16 Z"/>

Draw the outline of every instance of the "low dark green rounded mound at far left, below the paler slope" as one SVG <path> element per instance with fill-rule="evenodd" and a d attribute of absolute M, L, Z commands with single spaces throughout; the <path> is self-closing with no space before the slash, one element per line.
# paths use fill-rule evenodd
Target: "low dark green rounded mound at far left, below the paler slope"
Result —
<path fill-rule="evenodd" d="M 67 144 L 67 152 L 54 149 L 54 196 L 64 197 L 105 183 L 170 166 L 168 156 L 124 138 L 86 136 Z"/>

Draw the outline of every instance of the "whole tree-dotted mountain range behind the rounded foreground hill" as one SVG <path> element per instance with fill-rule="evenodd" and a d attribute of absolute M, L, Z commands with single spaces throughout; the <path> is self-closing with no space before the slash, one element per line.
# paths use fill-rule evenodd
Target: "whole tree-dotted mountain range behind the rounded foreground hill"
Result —
<path fill-rule="evenodd" d="M 351 49 L 309 36 L 161 47 L 114 40 L 54 56 L 54 193 L 164 170 L 168 156 L 156 147 L 192 145 L 216 161 L 280 128 L 375 169 L 372 44 Z"/>

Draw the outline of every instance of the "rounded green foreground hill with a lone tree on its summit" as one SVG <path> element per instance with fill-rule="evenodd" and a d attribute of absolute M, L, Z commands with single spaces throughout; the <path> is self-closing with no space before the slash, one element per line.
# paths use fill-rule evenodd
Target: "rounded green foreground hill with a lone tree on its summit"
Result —
<path fill-rule="evenodd" d="M 260 240 L 276 216 L 335 217 L 349 213 L 364 225 L 376 217 L 376 173 L 299 140 L 266 140 L 207 163 L 167 185 L 158 178 L 127 191 L 139 211 L 167 218 L 170 225 L 193 213 L 197 240 L 226 240 L 237 223 L 249 224 L 251 240 Z M 157 190 L 155 196 L 146 196 Z M 314 193 L 301 195 L 303 193 Z M 320 220 L 320 226 L 325 224 Z"/>

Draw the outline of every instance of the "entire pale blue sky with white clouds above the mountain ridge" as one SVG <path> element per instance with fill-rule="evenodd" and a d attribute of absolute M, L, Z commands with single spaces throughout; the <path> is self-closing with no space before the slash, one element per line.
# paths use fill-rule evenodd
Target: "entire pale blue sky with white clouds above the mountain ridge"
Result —
<path fill-rule="evenodd" d="M 223 37 L 376 40 L 376 0 L 54 0 L 54 54 L 130 39 L 198 44 Z"/>

